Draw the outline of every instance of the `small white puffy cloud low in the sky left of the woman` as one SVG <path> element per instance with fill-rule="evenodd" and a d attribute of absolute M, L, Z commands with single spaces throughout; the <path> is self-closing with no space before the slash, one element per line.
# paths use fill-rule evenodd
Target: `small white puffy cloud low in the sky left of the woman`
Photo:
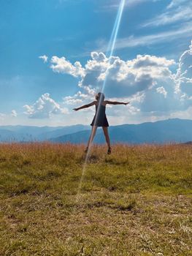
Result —
<path fill-rule="evenodd" d="M 24 105 L 23 108 L 29 118 L 50 118 L 54 114 L 66 114 L 67 108 L 61 108 L 57 102 L 50 98 L 50 94 L 42 94 L 33 105 Z"/>

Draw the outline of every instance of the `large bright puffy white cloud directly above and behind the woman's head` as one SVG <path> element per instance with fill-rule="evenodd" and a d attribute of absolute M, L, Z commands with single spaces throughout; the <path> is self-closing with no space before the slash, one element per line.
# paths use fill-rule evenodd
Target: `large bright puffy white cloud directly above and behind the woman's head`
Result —
<path fill-rule="evenodd" d="M 59 59 L 54 57 L 60 67 L 57 72 L 66 73 L 74 77 L 77 72 L 74 66 L 66 61 L 64 57 Z M 67 62 L 67 64 L 66 64 Z M 105 91 L 109 97 L 122 97 L 137 94 L 155 86 L 156 80 L 169 78 L 172 72 L 169 67 L 175 64 L 174 60 L 163 57 L 138 55 L 131 61 L 123 61 L 117 56 L 107 58 L 104 53 L 91 53 L 91 59 L 81 67 L 83 72 L 80 74 L 78 83 L 82 92 L 79 91 L 73 97 L 66 97 L 66 104 L 76 104 L 82 99 L 93 99 L 96 91 L 100 91 L 104 80 L 106 80 Z M 64 68 L 64 66 L 69 68 Z M 53 67 L 51 67 L 53 69 Z"/>

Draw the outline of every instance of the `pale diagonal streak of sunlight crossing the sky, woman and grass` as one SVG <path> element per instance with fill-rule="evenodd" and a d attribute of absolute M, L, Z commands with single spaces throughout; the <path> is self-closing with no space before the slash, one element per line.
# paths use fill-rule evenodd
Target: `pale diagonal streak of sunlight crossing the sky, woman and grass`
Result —
<path fill-rule="evenodd" d="M 112 29 L 112 34 L 111 34 L 111 37 L 110 37 L 110 42 L 109 42 L 108 47 L 107 47 L 106 56 L 109 59 L 109 61 L 111 61 L 111 57 L 112 57 L 112 55 L 114 53 L 114 50 L 115 50 L 115 42 L 116 42 L 117 37 L 118 37 L 118 31 L 119 31 L 119 27 L 120 27 L 120 20 L 121 20 L 122 15 L 123 15 L 123 9 L 125 7 L 125 3 L 126 3 L 126 0 L 121 0 L 120 1 L 120 5 L 119 5 L 119 8 L 118 8 L 118 14 L 117 14 L 117 17 L 115 19 L 115 24 L 114 24 L 113 29 Z M 110 65 L 109 65 L 109 67 L 106 70 L 106 75 L 105 75 L 104 83 L 103 83 L 103 85 L 101 87 L 101 92 L 104 91 L 104 87 L 106 85 L 109 69 L 110 69 Z M 100 107 L 101 107 L 101 97 L 99 99 L 98 110 L 96 112 L 96 118 L 95 118 L 93 126 L 96 124 Z M 92 146 L 92 143 L 90 143 L 90 145 L 88 146 L 88 150 L 87 150 L 86 156 L 85 156 L 85 162 L 84 162 L 84 165 L 82 167 L 82 176 L 80 178 L 80 184 L 79 184 L 78 191 L 77 191 L 77 201 L 79 200 L 80 189 L 82 187 L 82 181 L 83 181 L 83 178 L 84 178 L 84 175 L 85 175 L 85 169 L 86 169 L 86 165 L 87 165 L 87 162 L 88 162 L 88 155 L 90 153 L 91 146 Z"/>

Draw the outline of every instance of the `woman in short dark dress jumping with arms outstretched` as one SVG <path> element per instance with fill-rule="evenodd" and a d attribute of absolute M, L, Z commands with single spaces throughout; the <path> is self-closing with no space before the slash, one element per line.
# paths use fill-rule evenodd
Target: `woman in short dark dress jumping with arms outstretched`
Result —
<path fill-rule="evenodd" d="M 110 145 L 110 136 L 108 133 L 108 121 L 107 121 L 107 117 L 105 114 L 105 109 L 106 109 L 106 105 L 107 104 L 112 104 L 112 105 L 128 105 L 129 102 L 111 102 L 109 100 L 104 100 L 104 94 L 99 92 L 99 94 L 96 94 L 96 100 L 87 104 L 87 105 L 83 105 L 80 108 L 74 108 L 75 111 L 80 110 L 82 108 L 89 108 L 93 105 L 96 105 L 96 114 L 93 118 L 93 121 L 91 123 L 92 126 L 92 131 L 91 131 L 91 135 L 90 138 L 88 140 L 88 146 L 85 149 L 85 153 L 88 152 L 88 148 L 91 146 L 91 143 L 93 141 L 94 136 L 96 135 L 96 129 L 97 127 L 102 127 L 103 131 L 104 131 L 104 136 L 107 142 L 107 146 L 108 146 L 108 151 L 107 154 L 111 154 L 111 145 Z M 99 108 L 98 108 L 99 107 Z"/>

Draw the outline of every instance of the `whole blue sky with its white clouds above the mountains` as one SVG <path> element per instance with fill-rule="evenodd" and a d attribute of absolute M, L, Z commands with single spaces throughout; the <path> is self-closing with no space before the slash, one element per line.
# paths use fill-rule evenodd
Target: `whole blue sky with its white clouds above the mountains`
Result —
<path fill-rule="evenodd" d="M 108 59 L 119 4 L 1 1 L 1 125 L 90 124 L 94 108 L 72 108 L 93 101 L 106 78 L 107 99 L 131 102 L 107 108 L 112 125 L 191 118 L 191 1 L 126 1 Z"/>

